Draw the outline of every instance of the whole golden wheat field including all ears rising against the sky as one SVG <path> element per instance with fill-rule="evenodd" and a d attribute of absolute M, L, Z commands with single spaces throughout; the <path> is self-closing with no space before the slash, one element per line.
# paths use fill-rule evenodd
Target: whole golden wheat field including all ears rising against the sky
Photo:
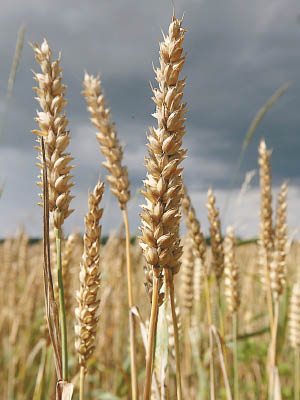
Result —
<path fill-rule="evenodd" d="M 20 230 L 0 246 L 1 398 L 300 398 L 300 275 L 298 245 L 288 240 L 287 184 L 273 223 L 271 152 L 262 140 L 258 241 L 238 245 L 233 226 L 222 237 L 209 189 L 207 243 L 182 176 L 182 23 L 173 15 L 159 44 L 156 123 L 147 136 L 145 203 L 134 243 L 123 149 L 99 77 L 87 73 L 82 94 L 124 224 L 100 244 L 106 189 L 99 180 L 88 194 L 83 238 L 65 237 L 74 185 L 66 87 L 60 56 L 52 60 L 46 40 L 32 44 L 41 68 L 34 73 L 40 110 L 33 132 L 44 233 L 30 245 Z"/>

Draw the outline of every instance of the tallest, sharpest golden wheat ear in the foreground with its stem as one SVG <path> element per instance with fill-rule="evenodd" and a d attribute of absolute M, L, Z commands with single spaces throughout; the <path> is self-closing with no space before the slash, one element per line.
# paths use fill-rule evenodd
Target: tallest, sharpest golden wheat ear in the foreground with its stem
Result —
<path fill-rule="evenodd" d="M 173 296 L 173 274 L 179 271 L 179 259 L 182 253 L 179 240 L 182 169 L 179 164 L 186 153 L 181 149 L 182 137 L 185 134 L 186 105 L 181 103 L 185 80 L 179 80 L 179 73 L 185 61 L 182 49 L 184 32 L 182 20 L 173 16 L 168 35 L 163 35 L 164 40 L 160 43 L 160 66 L 154 69 L 158 88 L 153 88 L 153 101 L 156 104 L 153 116 L 157 119 L 158 126 L 157 128 L 152 127 L 148 136 L 148 157 L 146 158 L 148 172 L 144 181 L 145 189 L 141 191 L 146 198 L 146 204 L 142 206 L 140 243 L 146 261 L 153 270 L 153 296 L 144 400 L 149 399 L 151 391 L 153 338 L 158 313 L 159 280 L 162 269 L 165 269 L 166 283 L 170 284 L 170 296 Z M 174 306 L 172 298 L 171 306 Z M 175 339 L 178 345 L 175 310 L 172 310 L 172 315 Z M 178 360 L 177 366 L 179 367 Z M 181 399 L 178 368 L 177 385 L 178 396 Z"/>

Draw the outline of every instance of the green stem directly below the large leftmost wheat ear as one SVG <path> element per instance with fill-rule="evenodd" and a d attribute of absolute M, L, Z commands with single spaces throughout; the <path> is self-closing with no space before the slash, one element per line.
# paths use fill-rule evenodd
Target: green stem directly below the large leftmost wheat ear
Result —
<path fill-rule="evenodd" d="M 62 372 L 63 380 L 68 380 L 68 336 L 67 336 L 67 318 L 64 296 L 64 285 L 62 278 L 62 263 L 61 263 L 61 229 L 55 228 L 56 236 L 56 254 L 57 254 L 57 282 L 58 282 L 58 299 L 59 299 L 59 317 L 60 317 L 60 332 L 62 345 Z"/>

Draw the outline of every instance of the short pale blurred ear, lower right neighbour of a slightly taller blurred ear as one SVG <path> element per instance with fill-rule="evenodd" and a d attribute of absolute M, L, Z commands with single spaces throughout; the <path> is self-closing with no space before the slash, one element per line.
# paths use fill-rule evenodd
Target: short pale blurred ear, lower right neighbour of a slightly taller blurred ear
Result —
<path fill-rule="evenodd" d="M 229 226 L 224 240 L 224 295 L 231 314 L 236 313 L 240 305 L 239 268 L 234 259 L 234 242 L 234 229 Z"/>

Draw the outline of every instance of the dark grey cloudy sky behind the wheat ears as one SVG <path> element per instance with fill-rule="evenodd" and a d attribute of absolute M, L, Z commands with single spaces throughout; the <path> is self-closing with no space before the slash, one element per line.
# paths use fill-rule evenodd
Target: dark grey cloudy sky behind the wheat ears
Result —
<path fill-rule="evenodd" d="M 257 235 L 259 180 L 254 175 L 240 201 L 245 174 L 257 170 L 257 148 L 265 138 L 272 152 L 274 199 L 284 179 L 289 182 L 290 234 L 300 228 L 300 4 L 296 0 L 175 0 L 178 17 L 184 13 L 186 76 L 184 101 L 188 114 L 184 147 L 184 180 L 198 219 L 208 233 L 206 193 L 211 186 L 220 208 L 223 229 L 234 224 L 243 237 Z M 167 31 L 172 3 L 167 0 L 2 0 L 0 13 L 0 117 L 14 56 L 17 31 L 25 24 L 25 41 L 13 96 L 0 138 L 0 237 L 14 234 L 20 224 L 32 236 L 42 234 L 42 210 L 36 205 L 38 168 L 32 129 L 38 105 L 32 70 L 39 72 L 29 42 L 43 38 L 53 57 L 61 52 L 66 108 L 70 120 L 70 152 L 74 157 L 74 213 L 65 225 L 83 231 L 88 190 L 104 160 L 81 95 L 84 71 L 101 75 L 105 96 L 125 145 L 132 199 L 132 234 L 140 224 L 138 194 L 145 178 L 146 133 L 151 116 L 152 63 L 158 65 L 161 31 Z M 268 112 L 251 141 L 238 178 L 231 185 L 246 131 L 260 107 L 284 83 L 287 92 Z M 121 212 L 107 190 L 103 200 L 103 233 L 118 229 Z"/>

